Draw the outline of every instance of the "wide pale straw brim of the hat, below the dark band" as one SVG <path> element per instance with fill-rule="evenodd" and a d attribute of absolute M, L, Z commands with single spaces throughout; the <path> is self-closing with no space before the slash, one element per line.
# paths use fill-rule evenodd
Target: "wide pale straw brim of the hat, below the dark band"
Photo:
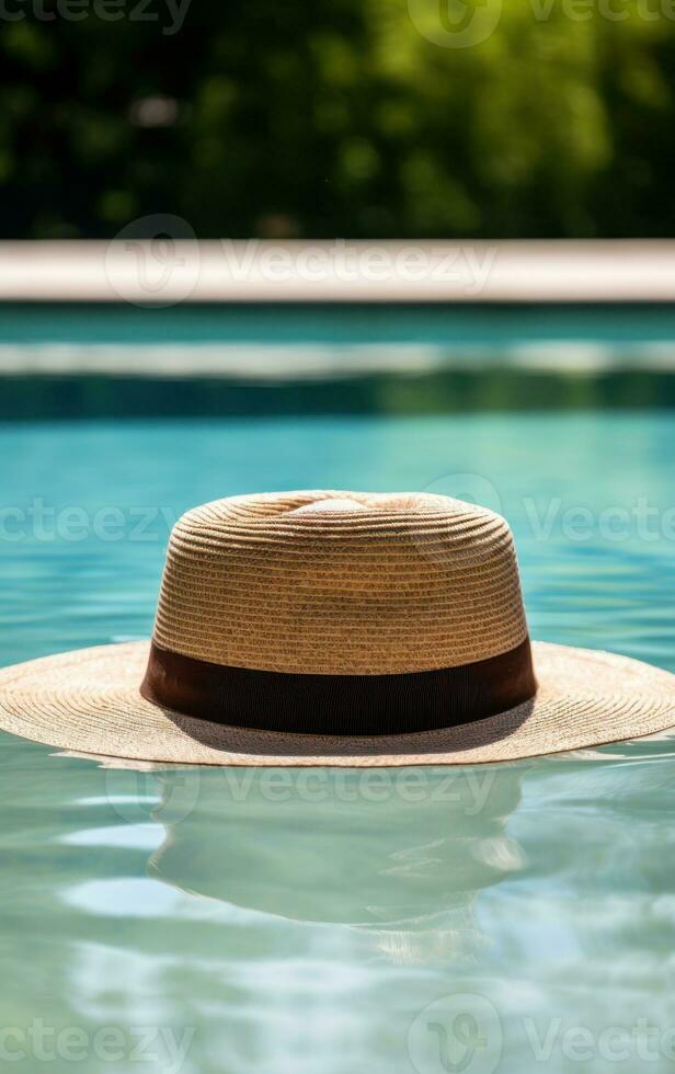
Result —
<path fill-rule="evenodd" d="M 533 643 L 536 697 L 474 723 L 327 736 L 197 720 L 139 694 L 149 642 L 100 645 L 0 671 L 0 729 L 87 754 L 201 765 L 482 764 L 675 730 L 675 675 L 614 653 Z"/>

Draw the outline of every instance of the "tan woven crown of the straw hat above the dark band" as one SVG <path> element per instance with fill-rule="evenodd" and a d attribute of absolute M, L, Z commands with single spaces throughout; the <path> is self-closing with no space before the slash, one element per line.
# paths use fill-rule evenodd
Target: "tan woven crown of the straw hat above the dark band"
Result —
<path fill-rule="evenodd" d="M 332 675 L 454 667 L 526 637 L 507 523 L 427 493 L 195 507 L 172 530 L 155 625 L 155 642 L 186 656 Z"/>

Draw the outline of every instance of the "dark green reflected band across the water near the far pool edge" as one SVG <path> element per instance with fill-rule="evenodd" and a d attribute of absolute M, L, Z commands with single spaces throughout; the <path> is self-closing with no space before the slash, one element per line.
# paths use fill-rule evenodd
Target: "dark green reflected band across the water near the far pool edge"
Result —
<path fill-rule="evenodd" d="M 670 373 L 523 373 L 499 364 L 422 376 L 381 373 L 268 386 L 219 377 L 3 377 L 0 421 L 93 418 L 264 418 L 308 414 L 469 414 L 507 411 L 675 410 Z"/>

